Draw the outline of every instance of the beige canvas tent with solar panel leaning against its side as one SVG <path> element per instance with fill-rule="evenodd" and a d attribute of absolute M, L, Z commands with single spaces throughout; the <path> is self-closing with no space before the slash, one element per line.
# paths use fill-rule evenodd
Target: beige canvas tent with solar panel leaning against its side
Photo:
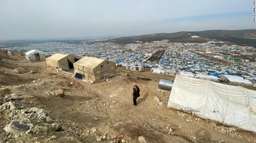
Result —
<path fill-rule="evenodd" d="M 116 63 L 104 59 L 85 56 L 74 63 L 74 73 L 84 75 L 93 82 L 116 73 Z"/>

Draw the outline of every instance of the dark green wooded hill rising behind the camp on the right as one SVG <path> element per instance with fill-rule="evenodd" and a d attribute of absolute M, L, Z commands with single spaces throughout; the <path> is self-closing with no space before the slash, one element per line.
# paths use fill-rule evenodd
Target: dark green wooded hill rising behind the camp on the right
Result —
<path fill-rule="evenodd" d="M 198 37 L 191 37 L 198 36 Z M 189 42 L 203 43 L 209 40 L 227 41 L 231 44 L 248 45 L 256 47 L 256 29 L 245 30 L 206 30 L 206 31 L 191 31 L 191 32 L 176 32 L 176 33 L 157 33 L 141 36 L 121 37 L 103 42 L 113 42 L 117 44 L 129 44 L 135 41 L 158 41 L 170 40 L 169 42 Z"/>

